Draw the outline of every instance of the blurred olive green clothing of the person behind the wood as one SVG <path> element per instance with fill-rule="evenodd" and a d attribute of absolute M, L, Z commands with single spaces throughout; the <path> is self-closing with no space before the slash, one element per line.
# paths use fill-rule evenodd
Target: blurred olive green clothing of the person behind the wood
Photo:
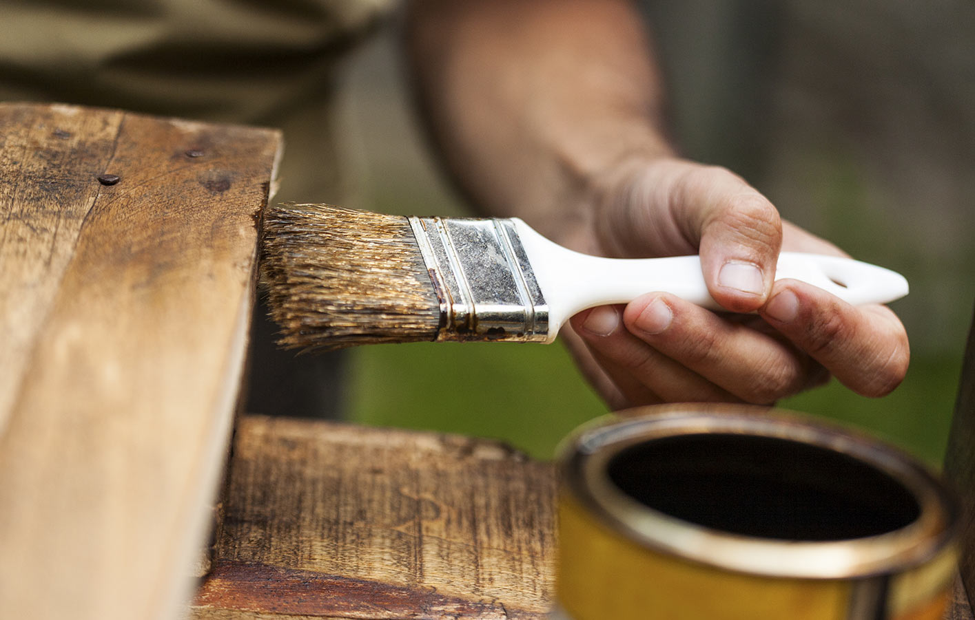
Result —
<path fill-rule="evenodd" d="M 281 200 L 338 201 L 338 60 L 394 0 L 0 3 L 0 100 L 282 128 Z"/>

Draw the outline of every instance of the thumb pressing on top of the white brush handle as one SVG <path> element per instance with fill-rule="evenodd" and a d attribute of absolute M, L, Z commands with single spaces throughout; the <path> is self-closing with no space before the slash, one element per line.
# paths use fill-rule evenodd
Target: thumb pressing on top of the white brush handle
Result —
<path fill-rule="evenodd" d="M 736 312 L 764 305 L 782 247 L 779 213 L 758 190 L 720 167 L 685 175 L 679 203 L 698 237 L 708 291 Z"/>

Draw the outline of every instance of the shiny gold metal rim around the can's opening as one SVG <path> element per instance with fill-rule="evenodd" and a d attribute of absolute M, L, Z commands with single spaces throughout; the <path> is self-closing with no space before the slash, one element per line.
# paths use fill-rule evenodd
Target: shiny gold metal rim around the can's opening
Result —
<path fill-rule="evenodd" d="M 909 523 L 873 535 L 806 540 L 763 537 L 707 527 L 654 509 L 621 490 L 608 473 L 628 449 L 687 436 L 733 436 L 821 449 L 876 470 L 917 503 Z M 952 493 L 911 456 L 848 429 L 761 407 L 647 407 L 594 420 L 564 445 L 563 492 L 571 493 L 606 527 L 635 544 L 704 565 L 751 574 L 850 579 L 922 565 L 955 537 Z"/>

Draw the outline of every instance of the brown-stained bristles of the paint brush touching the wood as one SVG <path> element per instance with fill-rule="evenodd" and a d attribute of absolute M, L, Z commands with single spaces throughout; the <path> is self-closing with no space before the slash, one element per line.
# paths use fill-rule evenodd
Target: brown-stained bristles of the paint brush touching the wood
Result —
<path fill-rule="evenodd" d="M 405 217 L 278 204 L 264 217 L 262 277 L 289 348 L 430 341 L 440 305 Z"/>

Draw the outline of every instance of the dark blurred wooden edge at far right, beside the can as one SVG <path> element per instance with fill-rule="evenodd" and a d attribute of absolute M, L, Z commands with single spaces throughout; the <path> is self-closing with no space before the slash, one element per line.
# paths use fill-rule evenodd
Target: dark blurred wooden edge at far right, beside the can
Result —
<path fill-rule="evenodd" d="M 945 454 L 945 476 L 961 500 L 958 568 L 969 601 L 975 599 L 975 315 L 961 365 L 961 380 Z"/>

